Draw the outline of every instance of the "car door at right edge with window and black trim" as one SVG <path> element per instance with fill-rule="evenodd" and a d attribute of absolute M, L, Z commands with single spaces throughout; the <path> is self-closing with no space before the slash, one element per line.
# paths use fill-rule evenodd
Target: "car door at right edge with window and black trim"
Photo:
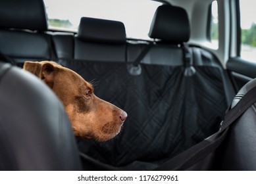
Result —
<path fill-rule="evenodd" d="M 256 77 L 256 1 L 230 3 L 230 57 L 226 68 L 236 90 Z"/>

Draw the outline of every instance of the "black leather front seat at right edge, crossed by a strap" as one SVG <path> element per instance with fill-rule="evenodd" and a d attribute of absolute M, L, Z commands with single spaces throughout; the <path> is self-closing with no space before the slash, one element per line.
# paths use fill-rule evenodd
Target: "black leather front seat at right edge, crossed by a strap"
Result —
<path fill-rule="evenodd" d="M 256 80 L 245 84 L 234 98 L 231 107 L 238 104 L 240 99 L 252 88 Z M 222 149 L 223 170 L 256 170 L 256 103 L 249 107 L 236 122 L 232 124 L 226 135 Z"/>

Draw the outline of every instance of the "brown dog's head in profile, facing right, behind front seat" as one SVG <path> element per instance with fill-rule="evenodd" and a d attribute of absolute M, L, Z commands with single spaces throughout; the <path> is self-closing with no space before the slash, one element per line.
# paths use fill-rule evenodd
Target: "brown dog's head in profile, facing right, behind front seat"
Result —
<path fill-rule="evenodd" d="M 93 86 L 76 72 L 49 61 L 27 61 L 23 68 L 43 80 L 61 99 L 76 136 L 107 141 L 119 133 L 126 112 L 96 97 Z"/>

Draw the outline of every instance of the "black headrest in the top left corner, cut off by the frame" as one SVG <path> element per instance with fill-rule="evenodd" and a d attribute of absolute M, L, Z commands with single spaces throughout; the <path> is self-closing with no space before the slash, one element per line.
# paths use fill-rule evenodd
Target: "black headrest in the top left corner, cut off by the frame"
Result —
<path fill-rule="evenodd" d="M 47 30 L 43 0 L 1 0 L 0 28 Z"/>

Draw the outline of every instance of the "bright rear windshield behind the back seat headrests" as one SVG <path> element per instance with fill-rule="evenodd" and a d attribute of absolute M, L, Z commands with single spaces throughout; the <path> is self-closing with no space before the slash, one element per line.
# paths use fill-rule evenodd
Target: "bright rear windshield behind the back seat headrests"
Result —
<path fill-rule="evenodd" d="M 51 30 L 77 32 L 82 16 L 118 20 L 124 23 L 130 38 L 149 39 L 155 10 L 161 3 L 148 0 L 44 0 Z"/>

